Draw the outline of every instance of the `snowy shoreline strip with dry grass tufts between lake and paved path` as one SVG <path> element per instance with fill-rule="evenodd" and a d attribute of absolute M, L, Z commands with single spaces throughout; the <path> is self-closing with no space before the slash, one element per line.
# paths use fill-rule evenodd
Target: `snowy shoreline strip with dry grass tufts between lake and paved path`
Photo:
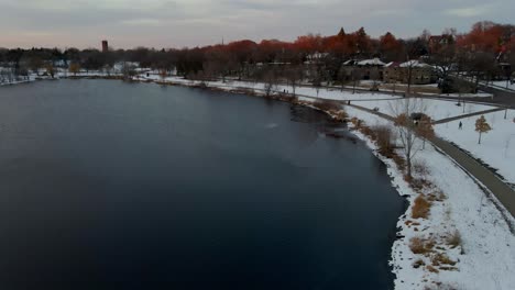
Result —
<path fill-rule="evenodd" d="M 346 110 L 350 116 L 359 118 L 368 125 L 390 124 L 384 119 L 353 108 Z M 366 140 L 361 133 L 357 134 Z M 368 144 L 375 149 L 372 142 L 368 141 Z M 494 202 L 472 178 L 447 156 L 426 145 L 426 149 L 416 155 L 415 163 L 427 168 L 424 177 L 435 187 L 423 193 L 442 192 L 446 198 L 432 203 L 428 220 L 412 219 L 413 202 L 418 193 L 408 187 L 392 160 L 376 155 L 388 166 L 388 174 L 398 192 L 410 201 L 406 215 L 397 224 L 404 238 L 393 245 L 395 289 L 513 289 L 515 236 Z M 515 222 L 511 216 L 507 219 Z M 461 246 L 453 248 L 446 241 L 456 231 L 461 235 Z M 435 253 L 428 256 L 414 254 L 409 247 L 413 237 L 435 241 Z M 447 265 L 449 270 L 435 267 L 438 272 L 431 272 L 427 266 L 432 265 L 431 257 L 437 253 L 445 254 L 456 265 Z M 424 265 L 414 267 L 417 261 Z"/>

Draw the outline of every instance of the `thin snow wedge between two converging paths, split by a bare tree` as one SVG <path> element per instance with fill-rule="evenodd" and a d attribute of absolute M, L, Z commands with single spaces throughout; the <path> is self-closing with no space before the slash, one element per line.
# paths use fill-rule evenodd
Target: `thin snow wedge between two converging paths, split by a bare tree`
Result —
<path fill-rule="evenodd" d="M 464 112 L 463 105 L 457 105 L 456 101 L 446 101 L 446 100 L 432 100 L 432 99 L 415 99 L 418 102 L 421 102 L 421 107 L 426 111 L 427 115 L 431 116 L 432 120 L 442 120 L 448 118 L 453 118 L 462 114 L 475 113 L 480 111 L 485 111 L 490 109 L 495 109 L 495 107 L 476 104 L 476 103 L 465 103 Z M 399 102 L 403 102 L 402 99 L 398 100 L 376 100 L 376 101 L 360 101 L 354 102 L 357 105 L 361 105 L 368 109 L 379 108 L 380 112 L 385 114 L 392 114 L 392 110 L 397 107 Z"/>

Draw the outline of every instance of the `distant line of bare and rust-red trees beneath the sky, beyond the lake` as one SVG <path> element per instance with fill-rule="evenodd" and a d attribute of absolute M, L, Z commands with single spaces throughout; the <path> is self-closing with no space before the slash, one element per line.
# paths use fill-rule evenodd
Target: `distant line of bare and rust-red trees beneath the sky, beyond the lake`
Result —
<path fill-rule="evenodd" d="M 363 27 L 351 33 L 341 29 L 336 35 L 308 34 L 294 42 L 243 40 L 204 47 L 138 47 L 106 53 L 95 48 L 0 48 L 0 66 L 21 76 L 55 66 L 109 70 L 117 63 L 131 62 L 163 71 L 163 75 L 175 70 L 194 79 L 235 77 L 297 81 L 309 78 L 314 85 L 342 81 L 344 62 L 374 57 L 386 63 L 424 59 L 437 67 L 440 79 L 447 79 L 452 71 L 467 71 L 475 81 L 498 76 L 509 78 L 511 67 L 515 67 L 515 26 L 483 21 L 475 23 L 467 33 L 447 29 L 435 37 L 424 31 L 419 36 L 407 40 L 391 32 L 374 38 Z M 347 76 L 346 79 L 357 77 Z"/>

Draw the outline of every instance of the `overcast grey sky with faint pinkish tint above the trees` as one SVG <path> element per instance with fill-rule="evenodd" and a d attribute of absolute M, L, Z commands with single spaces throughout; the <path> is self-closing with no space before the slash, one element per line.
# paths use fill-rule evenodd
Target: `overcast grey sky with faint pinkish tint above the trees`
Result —
<path fill-rule="evenodd" d="M 513 0 L 0 0 L 0 47 L 183 47 L 364 26 L 416 36 L 514 22 Z"/>

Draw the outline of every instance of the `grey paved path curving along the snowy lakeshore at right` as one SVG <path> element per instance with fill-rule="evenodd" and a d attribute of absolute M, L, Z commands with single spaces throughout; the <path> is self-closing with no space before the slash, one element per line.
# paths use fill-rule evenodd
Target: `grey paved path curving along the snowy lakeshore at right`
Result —
<path fill-rule="evenodd" d="M 361 111 L 365 111 L 386 120 L 393 121 L 393 116 L 385 113 L 375 112 L 368 108 L 363 108 L 355 104 L 350 104 Z M 501 180 L 495 172 L 483 166 L 475 158 L 454 146 L 453 144 L 439 138 L 434 137 L 430 142 L 447 156 L 452 158 L 463 170 L 478 180 L 483 187 L 492 192 L 497 200 L 504 205 L 504 208 L 515 217 L 515 191 L 503 180 Z M 512 228 L 513 231 L 513 228 Z"/>

